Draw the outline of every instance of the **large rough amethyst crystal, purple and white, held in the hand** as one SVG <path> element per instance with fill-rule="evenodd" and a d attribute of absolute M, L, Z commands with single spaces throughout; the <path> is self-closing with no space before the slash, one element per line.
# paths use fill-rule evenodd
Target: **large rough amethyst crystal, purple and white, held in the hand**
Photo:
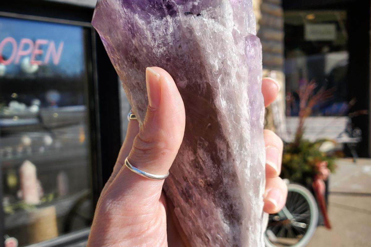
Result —
<path fill-rule="evenodd" d="M 139 121 L 145 67 L 173 76 L 186 127 L 164 189 L 192 246 L 263 244 L 262 52 L 251 0 L 98 0 L 101 36 Z"/>

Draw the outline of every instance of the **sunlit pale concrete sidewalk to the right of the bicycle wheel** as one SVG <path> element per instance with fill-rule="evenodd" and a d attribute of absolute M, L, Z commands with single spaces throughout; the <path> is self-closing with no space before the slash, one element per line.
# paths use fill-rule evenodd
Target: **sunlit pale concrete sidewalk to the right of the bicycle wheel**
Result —
<path fill-rule="evenodd" d="M 332 229 L 318 227 L 308 247 L 371 247 L 371 159 L 337 161 L 329 187 Z"/>

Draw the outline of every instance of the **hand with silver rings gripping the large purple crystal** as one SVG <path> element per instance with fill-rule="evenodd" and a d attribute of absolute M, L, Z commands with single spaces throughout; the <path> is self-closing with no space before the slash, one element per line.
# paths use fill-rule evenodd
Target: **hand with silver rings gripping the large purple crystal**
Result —
<path fill-rule="evenodd" d="M 183 140 L 185 112 L 174 80 L 158 67 L 146 70 L 149 106 L 143 125 L 130 120 L 114 171 L 102 190 L 91 227 L 88 247 L 102 246 L 188 246 L 178 231 L 173 205 L 162 193 L 164 180 L 141 177 L 125 167 L 124 160 L 141 170 L 165 174 Z M 262 93 L 265 106 L 277 96 L 278 84 L 265 78 Z M 285 204 L 286 184 L 278 177 L 282 141 L 264 131 L 266 145 L 266 189 L 264 210 L 279 211 Z"/>

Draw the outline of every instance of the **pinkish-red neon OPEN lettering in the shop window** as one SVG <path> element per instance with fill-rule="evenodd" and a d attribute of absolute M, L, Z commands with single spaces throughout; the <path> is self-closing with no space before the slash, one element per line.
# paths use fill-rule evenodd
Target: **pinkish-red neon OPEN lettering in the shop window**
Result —
<path fill-rule="evenodd" d="M 0 43 L 0 63 L 19 64 L 21 57 L 31 55 L 31 64 L 42 65 L 51 61 L 57 65 L 62 55 L 63 44 L 63 41 L 60 41 L 57 48 L 53 40 L 44 39 L 37 39 L 35 42 L 30 39 L 21 39 L 18 44 L 13 37 L 6 37 Z M 12 53 L 6 59 L 2 55 L 5 46 L 12 47 Z"/>

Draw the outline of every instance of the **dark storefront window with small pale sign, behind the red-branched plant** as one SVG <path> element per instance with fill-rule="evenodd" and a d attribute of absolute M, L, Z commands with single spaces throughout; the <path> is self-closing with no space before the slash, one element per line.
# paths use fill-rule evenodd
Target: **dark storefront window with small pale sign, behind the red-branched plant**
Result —
<path fill-rule="evenodd" d="M 298 91 L 309 81 L 332 97 L 313 107 L 315 116 L 344 115 L 348 99 L 347 12 L 285 11 L 285 76 L 289 116 L 298 116 Z"/>

